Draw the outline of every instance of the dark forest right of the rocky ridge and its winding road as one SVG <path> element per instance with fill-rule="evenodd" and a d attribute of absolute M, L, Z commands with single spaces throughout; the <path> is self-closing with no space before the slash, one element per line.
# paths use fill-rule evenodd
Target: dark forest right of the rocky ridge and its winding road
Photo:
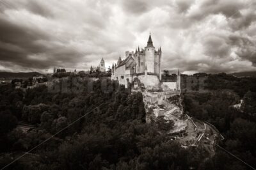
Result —
<path fill-rule="evenodd" d="M 221 73 L 210 75 L 207 81 L 207 88 L 211 89 L 208 93 L 184 94 L 186 113 L 218 128 L 225 137 L 220 146 L 256 167 L 255 77 L 237 78 Z M 250 169 L 220 148 L 216 147 L 216 151 L 214 157 L 205 161 L 207 169 Z"/>

